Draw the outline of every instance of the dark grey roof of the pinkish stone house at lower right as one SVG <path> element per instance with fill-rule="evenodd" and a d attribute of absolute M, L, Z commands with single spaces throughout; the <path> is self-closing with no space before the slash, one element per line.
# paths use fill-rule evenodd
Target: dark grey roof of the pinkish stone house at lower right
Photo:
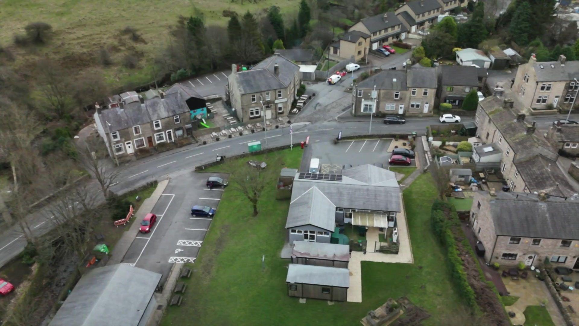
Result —
<path fill-rule="evenodd" d="M 500 194 L 500 195 L 499 195 Z M 497 235 L 579 240 L 579 200 L 497 193 L 490 212 Z"/>

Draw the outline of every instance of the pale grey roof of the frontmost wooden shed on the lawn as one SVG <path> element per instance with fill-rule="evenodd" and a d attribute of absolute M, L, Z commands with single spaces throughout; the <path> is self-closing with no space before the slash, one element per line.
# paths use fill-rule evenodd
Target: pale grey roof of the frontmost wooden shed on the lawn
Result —
<path fill-rule="evenodd" d="M 346 268 L 290 264 L 286 282 L 350 287 L 350 271 Z"/>

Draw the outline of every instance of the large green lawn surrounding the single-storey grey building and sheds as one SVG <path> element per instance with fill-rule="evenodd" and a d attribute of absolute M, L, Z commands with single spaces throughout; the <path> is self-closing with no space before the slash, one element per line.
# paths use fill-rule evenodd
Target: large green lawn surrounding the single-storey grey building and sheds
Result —
<path fill-rule="evenodd" d="M 285 164 L 276 166 L 271 158 L 280 154 Z M 329 306 L 324 300 L 307 299 L 302 304 L 287 296 L 289 261 L 279 258 L 279 253 L 286 237 L 289 201 L 275 200 L 273 189 L 279 169 L 298 167 L 299 155 L 301 151 L 284 150 L 252 157 L 268 162 L 271 184 L 256 217 L 243 196 L 226 189 L 199 256 L 188 265 L 193 270 L 185 280 L 189 290 L 180 307 L 168 307 L 161 325 L 356 325 L 369 310 L 402 295 L 433 316 L 423 324 L 441 325 L 445 316 L 464 307 L 450 284 L 444 253 L 430 227 L 437 190 L 427 174 L 405 191 L 415 264 L 363 262 L 362 303 Z M 211 171 L 228 171 L 248 159 L 229 161 Z"/>

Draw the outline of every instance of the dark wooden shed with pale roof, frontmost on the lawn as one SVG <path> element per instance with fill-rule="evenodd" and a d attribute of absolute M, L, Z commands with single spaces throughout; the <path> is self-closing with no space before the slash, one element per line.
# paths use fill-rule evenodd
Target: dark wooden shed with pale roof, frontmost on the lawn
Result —
<path fill-rule="evenodd" d="M 290 264 L 285 281 L 289 296 L 346 301 L 350 271 L 338 267 Z"/>

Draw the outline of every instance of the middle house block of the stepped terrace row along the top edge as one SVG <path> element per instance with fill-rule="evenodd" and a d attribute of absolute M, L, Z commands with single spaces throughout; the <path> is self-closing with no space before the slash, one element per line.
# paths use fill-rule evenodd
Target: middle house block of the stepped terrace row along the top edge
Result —
<path fill-rule="evenodd" d="M 418 30 L 427 30 L 442 12 L 443 7 L 438 0 L 406 2 L 395 10 L 396 16 L 411 33 Z"/>

